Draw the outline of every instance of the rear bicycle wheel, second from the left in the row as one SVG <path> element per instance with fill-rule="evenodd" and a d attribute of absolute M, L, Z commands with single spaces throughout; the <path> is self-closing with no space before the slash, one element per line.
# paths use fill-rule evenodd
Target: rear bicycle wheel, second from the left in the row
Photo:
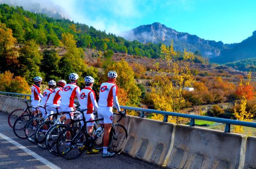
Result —
<path fill-rule="evenodd" d="M 23 116 L 17 118 L 17 120 L 13 124 L 13 132 L 14 132 L 15 136 L 17 136 L 20 139 L 26 139 L 25 126 L 26 126 L 27 122 L 33 117 L 34 116 L 32 116 L 32 115 L 23 115 Z"/>

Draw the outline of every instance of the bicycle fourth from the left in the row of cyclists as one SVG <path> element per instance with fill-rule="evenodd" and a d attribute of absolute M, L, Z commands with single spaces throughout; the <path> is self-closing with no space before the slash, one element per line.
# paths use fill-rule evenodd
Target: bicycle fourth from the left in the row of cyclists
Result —
<path fill-rule="evenodd" d="M 62 112 L 62 114 L 60 114 L 58 112 L 58 109 L 60 107 L 54 107 L 54 106 L 52 106 L 52 107 L 56 109 L 57 118 L 54 121 L 44 121 L 42 124 L 40 124 L 37 127 L 37 129 L 36 129 L 36 131 L 34 133 L 35 144 L 37 145 L 37 147 L 42 148 L 42 149 L 46 149 L 45 141 L 46 141 L 46 133 L 47 133 L 47 131 L 52 126 L 54 126 L 56 124 L 64 124 L 63 122 L 61 122 L 61 117 L 65 116 L 65 114 L 69 114 L 70 115 L 70 113 L 71 113 L 71 112 Z M 78 113 L 74 113 L 74 114 L 78 114 Z M 71 115 L 70 115 L 70 119 L 71 119 Z M 76 122 L 77 121 L 72 120 L 70 124 L 78 125 L 78 124 L 76 124 Z M 66 124 L 64 124 L 64 125 L 66 125 Z M 69 126 L 67 125 L 67 127 L 69 127 Z"/>

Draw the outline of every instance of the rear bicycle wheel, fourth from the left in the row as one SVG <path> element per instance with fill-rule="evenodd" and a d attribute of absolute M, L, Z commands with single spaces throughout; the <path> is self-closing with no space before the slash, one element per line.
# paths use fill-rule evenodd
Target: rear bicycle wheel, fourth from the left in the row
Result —
<path fill-rule="evenodd" d="M 34 141 L 37 147 L 46 149 L 46 132 L 52 127 L 54 121 L 45 121 L 37 127 L 34 134 Z"/>

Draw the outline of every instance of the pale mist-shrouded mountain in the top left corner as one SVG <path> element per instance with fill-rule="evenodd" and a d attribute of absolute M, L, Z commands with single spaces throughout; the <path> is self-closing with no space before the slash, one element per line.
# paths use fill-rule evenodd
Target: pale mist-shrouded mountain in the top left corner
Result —
<path fill-rule="evenodd" d="M 61 6 L 51 0 L 0 0 L 0 4 L 6 3 L 9 6 L 22 6 L 23 9 L 34 13 L 43 13 L 52 18 L 70 19 L 69 14 Z"/>

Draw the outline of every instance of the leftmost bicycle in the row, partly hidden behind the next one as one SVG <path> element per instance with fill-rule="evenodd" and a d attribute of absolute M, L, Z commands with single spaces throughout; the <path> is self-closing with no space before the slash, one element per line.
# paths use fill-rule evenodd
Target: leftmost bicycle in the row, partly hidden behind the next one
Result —
<path fill-rule="evenodd" d="M 8 124 L 12 128 L 13 128 L 13 124 L 15 123 L 18 117 L 22 115 L 32 115 L 32 112 L 30 111 L 30 108 L 32 108 L 32 106 L 28 106 L 28 103 L 27 103 L 27 102 L 31 102 L 31 100 L 22 101 L 22 102 L 27 104 L 27 108 L 13 110 L 8 116 Z"/>

